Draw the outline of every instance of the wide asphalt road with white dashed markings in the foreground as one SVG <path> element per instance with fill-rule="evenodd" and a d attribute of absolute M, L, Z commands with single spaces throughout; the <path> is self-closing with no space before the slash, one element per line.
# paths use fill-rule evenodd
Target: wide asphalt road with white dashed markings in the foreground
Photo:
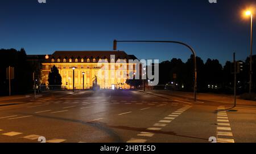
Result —
<path fill-rule="evenodd" d="M 139 91 L 52 92 L 0 101 L 0 142 L 256 142 L 256 107 Z"/>

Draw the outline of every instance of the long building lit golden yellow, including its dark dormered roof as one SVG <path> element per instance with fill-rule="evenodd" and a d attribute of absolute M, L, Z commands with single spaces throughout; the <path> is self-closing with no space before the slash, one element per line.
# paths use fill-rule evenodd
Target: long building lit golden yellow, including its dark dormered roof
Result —
<path fill-rule="evenodd" d="M 131 59 L 137 58 L 122 51 L 56 51 L 42 63 L 43 84 L 48 86 L 48 74 L 56 66 L 63 88 L 73 89 L 74 76 L 75 89 L 90 89 L 96 80 L 101 89 L 129 89 L 126 80 L 137 65 Z"/>

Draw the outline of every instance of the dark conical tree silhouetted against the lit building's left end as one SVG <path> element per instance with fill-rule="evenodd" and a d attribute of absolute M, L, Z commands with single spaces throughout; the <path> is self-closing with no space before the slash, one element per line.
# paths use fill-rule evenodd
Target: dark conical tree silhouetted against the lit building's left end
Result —
<path fill-rule="evenodd" d="M 57 69 L 57 67 L 55 65 L 51 68 L 51 71 L 49 72 L 48 82 L 49 82 L 49 85 L 61 85 L 62 84 L 59 70 Z"/>

